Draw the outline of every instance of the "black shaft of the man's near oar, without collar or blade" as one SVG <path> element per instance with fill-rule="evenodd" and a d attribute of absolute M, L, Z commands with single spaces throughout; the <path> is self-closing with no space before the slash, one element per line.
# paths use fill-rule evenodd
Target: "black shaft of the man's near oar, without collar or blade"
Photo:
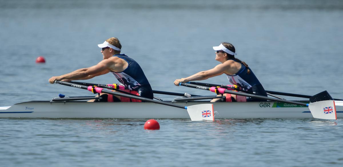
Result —
<path fill-rule="evenodd" d="M 76 83 L 69 83 L 69 82 L 63 82 L 63 81 L 56 81 L 56 83 L 61 84 L 61 85 L 72 86 L 72 87 L 88 90 L 88 86 L 84 86 L 84 85 L 80 85 L 80 84 L 76 84 Z M 106 89 L 102 89 L 101 92 L 102 93 L 111 94 L 111 95 L 116 95 L 116 96 L 122 96 L 122 97 L 127 97 L 127 98 L 142 100 L 142 101 L 147 101 L 147 102 L 153 102 L 153 103 L 157 103 L 157 104 L 161 104 L 161 105 L 167 105 L 167 106 L 187 109 L 187 106 L 181 106 L 181 105 L 176 105 L 176 104 L 173 104 L 173 103 L 157 101 L 157 100 L 148 99 L 148 98 L 140 97 L 140 96 L 132 96 L 132 95 L 128 95 L 128 94 L 122 94 L 122 93 L 118 93 L 118 92 L 109 91 L 109 90 L 106 90 Z"/>

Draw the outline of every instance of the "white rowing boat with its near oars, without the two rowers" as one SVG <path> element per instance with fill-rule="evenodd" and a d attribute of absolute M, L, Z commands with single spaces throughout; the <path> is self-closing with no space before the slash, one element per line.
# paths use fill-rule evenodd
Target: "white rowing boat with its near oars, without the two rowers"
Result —
<path fill-rule="evenodd" d="M 107 89 L 117 89 L 116 85 L 91 86 L 90 83 L 55 81 L 61 85 L 86 89 L 93 93 L 107 93 L 134 98 L 143 102 L 87 102 L 80 100 L 99 99 L 100 97 L 65 97 L 60 95 L 50 101 L 28 101 L 1 106 L 0 118 L 110 118 L 110 119 L 191 119 L 192 121 L 216 119 L 254 119 L 254 118 L 319 118 L 337 119 L 343 117 L 343 100 L 334 100 L 326 92 L 312 96 L 310 101 L 289 101 L 259 96 L 255 94 L 233 92 L 224 88 L 215 88 L 221 94 L 231 93 L 242 96 L 270 100 L 261 102 L 209 102 L 204 99 L 225 96 L 179 97 L 173 101 L 148 99 L 129 94 L 120 94 Z M 183 86 L 211 90 L 214 87 L 180 83 Z M 86 86 L 88 85 L 88 86 Z M 175 93 L 173 93 L 175 95 Z M 313 101 L 313 100 L 316 101 Z M 201 101 L 197 101 L 201 100 Z M 310 103 L 311 102 L 311 103 Z M 324 108 L 323 108 L 324 107 Z M 186 110 L 185 110 L 186 109 Z M 187 112 L 186 112 L 187 111 Z"/>

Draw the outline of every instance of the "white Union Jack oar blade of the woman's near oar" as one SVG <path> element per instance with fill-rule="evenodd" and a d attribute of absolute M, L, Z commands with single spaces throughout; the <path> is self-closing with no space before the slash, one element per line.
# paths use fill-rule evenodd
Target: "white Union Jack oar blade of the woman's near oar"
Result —
<path fill-rule="evenodd" d="M 326 120 L 336 120 L 336 107 L 335 101 L 324 100 L 309 103 L 308 108 L 314 118 L 326 119 Z"/>

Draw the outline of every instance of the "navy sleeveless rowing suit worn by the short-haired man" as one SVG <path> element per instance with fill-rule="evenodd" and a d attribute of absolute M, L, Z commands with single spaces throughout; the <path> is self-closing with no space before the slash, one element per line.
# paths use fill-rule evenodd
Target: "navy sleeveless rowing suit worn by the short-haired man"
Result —
<path fill-rule="evenodd" d="M 152 88 L 139 64 L 125 54 L 115 54 L 113 56 L 124 59 L 129 64 L 122 72 L 110 71 L 114 76 L 116 76 L 118 81 L 124 84 L 125 88 L 130 91 L 137 91 L 138 95 L 153 99 L 154 94 L 152 92 Z"/>

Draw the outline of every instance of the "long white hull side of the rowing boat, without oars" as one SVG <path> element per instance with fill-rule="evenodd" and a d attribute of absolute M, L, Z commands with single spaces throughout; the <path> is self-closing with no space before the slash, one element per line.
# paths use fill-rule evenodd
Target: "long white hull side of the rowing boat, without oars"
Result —
<path fill-rule="evenodd" d="M 191 106 L 210 102 L 174 102 Z M 307 107 L 280 102 L 215 102 L 215 119 L 312 118 Z M 343 106 L 336 106 L 343 117 Z M 187 110 L 151 102 L 30 101 L 0 107 L 0 118 L 189 119 Z"/>

